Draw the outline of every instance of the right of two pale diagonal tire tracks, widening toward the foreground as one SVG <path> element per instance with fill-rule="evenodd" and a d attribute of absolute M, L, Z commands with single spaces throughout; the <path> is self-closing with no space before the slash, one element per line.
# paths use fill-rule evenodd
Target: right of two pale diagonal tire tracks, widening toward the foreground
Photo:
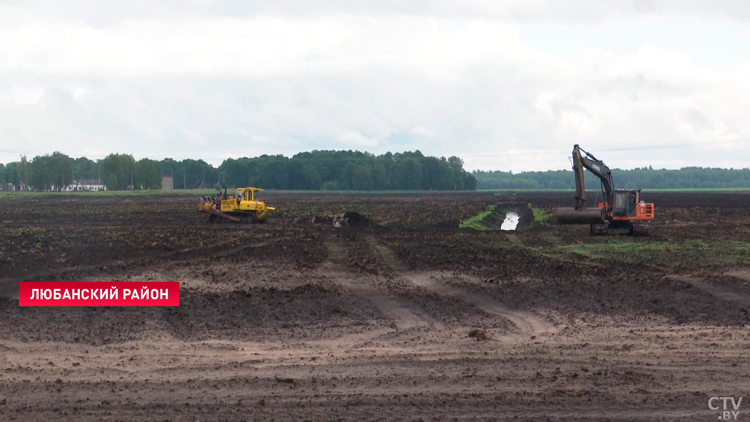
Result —
<path fill-rule="evenodd" d="M 459 287 L 438 282 L 434 279 L 433 274 L 431 273 L 415 273 L 410 271 L 409 268 L 407 268 L 398 259 L 398 257 L 393 253 L 391 249 L 379 244 L 377 240 L 372 236 L 367 237 L 367 243 L 370 248 L 375 253 L 377 253 L 378 256 L 380 256 L 380 258 L 386 265 L 391 267 L 400 276 L 409 280 L 412 284 L 430 290 L 439 295 L 457 297 L 488 314 L 499 316 L 501 318 L 509 320 L 516 327 L 517 332 L 502 336 L 501 339 L 520 339 L 528 336 L 554 333 L 556 331 L 555 327 L 552 324 L 532 313 L 513 310 L 487 296 L 483 296 L 478 293 L 472 293 Z"/>

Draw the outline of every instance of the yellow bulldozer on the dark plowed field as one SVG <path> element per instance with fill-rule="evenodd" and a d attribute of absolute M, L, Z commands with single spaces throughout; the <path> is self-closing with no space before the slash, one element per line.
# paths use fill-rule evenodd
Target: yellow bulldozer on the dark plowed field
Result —
<path fill-rule="evenodd" d="M 258 200 L 260 188 L 237 188 L 234 195 L 219 192 L 213 198 L 204 196 L 198 204 L 198 211 L 209 214 L 211 223 L 235 222 L 259 224 L 266 221 L 268 214 L 275 210 Z"/>

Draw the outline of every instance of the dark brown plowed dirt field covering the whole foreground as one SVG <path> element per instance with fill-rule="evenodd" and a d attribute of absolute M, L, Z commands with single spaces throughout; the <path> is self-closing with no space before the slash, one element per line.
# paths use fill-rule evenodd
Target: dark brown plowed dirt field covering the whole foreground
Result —
<path fill-rule="evenodd" d="M 543 221 L 572 193 L 264 194 L 259 225 L 1 199 L 0 420 L 716 421 L 711 397 L 750 420 L 750 193 L 644 192 L 648 237 Z M 143 280 L 180 306 L 18 304 L 19 281 Z"/>

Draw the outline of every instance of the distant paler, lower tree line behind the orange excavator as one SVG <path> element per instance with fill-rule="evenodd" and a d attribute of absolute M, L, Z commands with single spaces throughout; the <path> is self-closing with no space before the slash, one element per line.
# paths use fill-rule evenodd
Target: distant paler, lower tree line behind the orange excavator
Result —
<path fill-rule="evenodd" d="M 599 189 L 600 180 L 585 172 L 586 188 Z M 575 190 L 571 170 L 530 171 L 473 171 L 477 189 L 570 189 Z M 750 169 L 722 169 L 684 167 L 679 170 L 651 167 L 632 170 L 612 169 L 615 187 L 643 189 L 730 189 L 750 188 Z"/>

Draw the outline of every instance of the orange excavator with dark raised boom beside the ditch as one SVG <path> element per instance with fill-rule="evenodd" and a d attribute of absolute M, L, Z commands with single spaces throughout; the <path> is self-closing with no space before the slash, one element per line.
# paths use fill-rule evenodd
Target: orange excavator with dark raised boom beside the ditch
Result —
<path fill-rule="evenodd" d="M 602 201 L 596 207 L 586 207 L 584 169 L 602 183 Z M 576 206 L 558 208 L 555 212 L 558 224 L 589 224 L 591 234 L 627 229 L 631 235 L 648 235 L 647 223 L 654 219 L 654 204 L 641 201 L 640 189 L 615 189 L 609 167 L 578 145 L 573 147 L 573 171 Z"/>

